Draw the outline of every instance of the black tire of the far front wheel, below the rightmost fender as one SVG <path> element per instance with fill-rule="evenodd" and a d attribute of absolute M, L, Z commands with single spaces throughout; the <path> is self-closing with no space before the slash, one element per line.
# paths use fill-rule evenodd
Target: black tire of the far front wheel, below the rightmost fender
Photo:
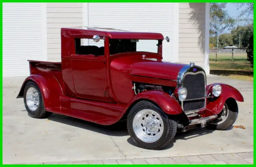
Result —
<path fill-rule="evenodd" d="M 238 117 L 238 105 L 236 100 L 234 100 L 234 98 L 229 98 L 228 100 L 226 100 L 225 104 L 224 104 L 224 109 L 222 109 L 222 112 L 220 112 L 220 115 L 222 115 L 222 113 L 224 112 L 225 108 L 228 109 L 228 116 L 226 118 L 226 120 L 222 123 L 216 123 L 218 121 L 214 121 L 210 124 L 207 125 L 207 128 L 209 129 L 214 129 L 214 130 L 226 130 L 228 128 L 230 128 L 234 122 L 236 122 L 236 119 Z"/>

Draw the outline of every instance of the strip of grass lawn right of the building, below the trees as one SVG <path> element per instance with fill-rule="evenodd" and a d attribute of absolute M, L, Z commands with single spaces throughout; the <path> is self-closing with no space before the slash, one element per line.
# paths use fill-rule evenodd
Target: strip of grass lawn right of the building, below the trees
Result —
<path fill-rule="evenodd" d="M 234 61 L 232 61 L 231 54 L 223 54 L 217 55 L 217 61 L 215 61 L 215 54 L 211 54 L 209 56 L 210 74 L 253 81 L 253 68 L 246 58 L 246 54 L 234 54 Z"/>

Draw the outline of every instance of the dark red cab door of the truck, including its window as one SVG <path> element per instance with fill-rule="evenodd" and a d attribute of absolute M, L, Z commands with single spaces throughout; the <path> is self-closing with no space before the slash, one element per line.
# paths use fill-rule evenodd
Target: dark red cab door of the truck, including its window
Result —
<path fill-rule="evenodd" d="M 87 41 L 87 42 L 86 42 Z M 106 57 L 103 46 L 86 45 L 92 39 L 75 38 L 72 73 L 76 96 L 91 100 L 109 101 L 106 78 Z M 84 43 L 84 45 L 83 45 Z"/>

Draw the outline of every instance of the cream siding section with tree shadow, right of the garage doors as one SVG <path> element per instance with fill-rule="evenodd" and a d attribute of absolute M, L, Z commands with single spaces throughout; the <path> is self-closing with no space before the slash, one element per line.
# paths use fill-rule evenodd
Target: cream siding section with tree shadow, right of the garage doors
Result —
<path fill-rule="evenodd" d="M 206 3 L 179 4 L 179 62 L 205 67 L 205 9 Z"/>

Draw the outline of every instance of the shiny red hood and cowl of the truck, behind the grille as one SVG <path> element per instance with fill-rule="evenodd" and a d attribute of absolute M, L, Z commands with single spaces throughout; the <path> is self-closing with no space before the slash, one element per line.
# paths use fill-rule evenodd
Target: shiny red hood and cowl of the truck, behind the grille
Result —
<path fill-rule="evenodd" d="M 146 55 L 146 59 L 142 59 Z M 165 80 L 177 80 L 185 64 L 163 62 L 157 54 L 146 52 L 120 53 L 110 57 L 110 69 L 118 74 L 134 75 Z"/>

